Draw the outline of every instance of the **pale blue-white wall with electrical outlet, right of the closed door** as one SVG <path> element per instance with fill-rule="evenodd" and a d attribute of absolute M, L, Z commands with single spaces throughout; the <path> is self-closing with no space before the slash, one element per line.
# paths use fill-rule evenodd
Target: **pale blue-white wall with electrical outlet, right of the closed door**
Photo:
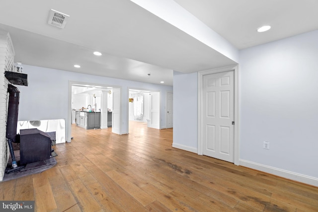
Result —
<path fill-rule="evenodd" d="M 240 52 L 241 159 L 318 178 L 317 68 L 318 31 Z"/>

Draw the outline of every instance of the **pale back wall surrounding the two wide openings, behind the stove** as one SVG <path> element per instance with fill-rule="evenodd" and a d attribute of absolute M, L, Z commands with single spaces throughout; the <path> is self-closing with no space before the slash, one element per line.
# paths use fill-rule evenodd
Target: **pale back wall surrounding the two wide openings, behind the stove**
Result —
<path fill-rule="evenodd" d="M 107 86 L 121 86 L 122 90 L 122 133 L 127 133 L 128 87 L 138 87 L 145 90 L 161 91 L 161 126 L 165 126 L 165 93 L 172 90 L 172 86 L 142 83 L 110 77 L 81 74 L 70 71 L 47 69 L 42 67 L 23 65 L 23 73 L 28 74 L 29 86 L 19 87 L 20 106 L 19 121 L 66 119 L 68 132 L 68 95 L 69 81 L 103 84 Z M 67 135 L 66 138 L 69 138 Z"/>

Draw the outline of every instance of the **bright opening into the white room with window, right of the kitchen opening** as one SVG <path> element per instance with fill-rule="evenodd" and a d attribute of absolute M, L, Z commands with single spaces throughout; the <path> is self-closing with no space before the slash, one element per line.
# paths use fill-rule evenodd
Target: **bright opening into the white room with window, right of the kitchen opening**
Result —
<path fill-rule="evenodd" d="M 128 95 L 128 132 L 132 122 L 160 129 L 160 92 L 128 88 Z"/>

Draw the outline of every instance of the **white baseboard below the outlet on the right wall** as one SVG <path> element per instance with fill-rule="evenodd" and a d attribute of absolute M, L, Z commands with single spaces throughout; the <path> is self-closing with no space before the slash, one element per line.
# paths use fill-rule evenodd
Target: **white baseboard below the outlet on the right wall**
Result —
<path fill-rule="evenodd" d="M 239 159 L 239 165 L 318 187 L 318 178 Z"/>

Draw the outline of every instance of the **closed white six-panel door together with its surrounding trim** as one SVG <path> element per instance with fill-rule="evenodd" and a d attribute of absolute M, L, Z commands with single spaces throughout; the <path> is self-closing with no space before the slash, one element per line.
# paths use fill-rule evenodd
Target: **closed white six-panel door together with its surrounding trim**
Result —
<path fill-rule="evenodd" d="M 238 75 L 238 67 L 198 72 L 198 154 L 234 162 L 237 165 L 239 165 Z M 211 87 L 212 90 L 207 87 Z M 225 89 L 222 90 L 222 87 Z M 220 104 L 223 106 L 221 113 Z M 214 117 L 217 119 L 213 120 Z M 210 123 L 212 120 L 214 122 Z M 223 123 L 225 120 L 226 123 Z M 212 151 L 218 153 L 211 155 Z M 225 155 L 227 156 L 223 157 Z"/>

